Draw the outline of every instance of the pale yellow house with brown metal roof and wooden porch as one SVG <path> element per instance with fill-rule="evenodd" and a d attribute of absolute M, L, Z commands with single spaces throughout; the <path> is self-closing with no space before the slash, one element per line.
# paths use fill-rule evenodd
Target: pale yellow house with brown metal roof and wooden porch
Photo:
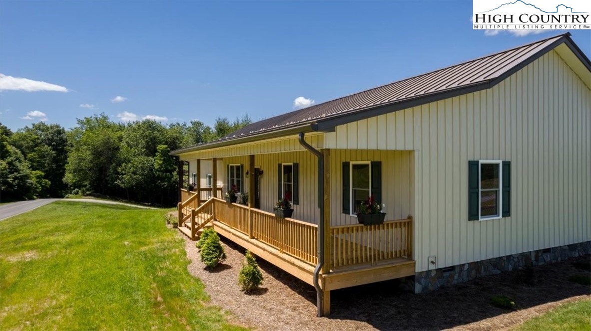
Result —
<path fill-rule="evenodd" d="M 591 250 L 591 64 L 568 33 L 171 154 L 201 193 L 181 189 L 181 230 L 211 225 L 315 286 L 319 316 L 343 287 L 411 276 L 420 293 Z M 223 200 L 233 185 L 248 205 Z M 383 224 L 359 224 L 368 196 Z"/>

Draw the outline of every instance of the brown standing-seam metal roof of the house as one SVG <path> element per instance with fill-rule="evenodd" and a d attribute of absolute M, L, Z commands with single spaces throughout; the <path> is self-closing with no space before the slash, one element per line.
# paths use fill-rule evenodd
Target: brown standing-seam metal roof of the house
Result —
<path fill-rule="evenodd" d="M 258 136 L 262 133 L 288 129 L 304 124 L 318 124 L 317 129 L 320 131 L 330 130 L 336 124 L 376 116 L 374 113 L 368 112 L 368 110 L 384 108 L 394 104 L 401 104 L 404 107 L 408 107 L 410 101 L 414 101 L 413 104 L 423 104 L 433 101 L 434 96 L 438 96 L 438 100 L 441 100 L 450 97 L 452 95 L 450 93 L 459 95 L 456 93 L 458 91 L 461 91 L 460 94 L 464 94 L 470 91 L 486 89 L 494 86 L 499 81 L 508 77 L 509 74 L 531 63 L 562 42 L 567 42 L 571 49 L 576 48 L 576 51 L 580 53 L 577 55 L 579 55 L 583 63 L 586 62 L 585 64 L 589 68 L 589 59 L 580 51 L 569 36 L 570 34 L 567 33 L 532 42 L 531 44 L 512 48 L 501 53 L 487 55 L 431 73 L 395 81 L 394 83 L 375 87 L 371 90 L 271 117 L 251 123 L 228 136 L 222 137 L 222 139 L 216 142 L 181 149 L 174 151 L 173 154 L 178 154 L 177 152 L 188 152 L 189 150 L 199 150 L 206 148 L 206 146 L 213 148 L 220 146 L 221 143 L 226 141 L 238 140 L 248 136 Z M 575 50 L 573 49 L 573 51 Z M 398 107 L 398 109 L 402 108 Z M 392 112 L 395 110 L 397 109 L 391 109 L 389 111 Z M 352 114 L 355 114 L 355 116 L 350 116 Z M 337 118 L 342 118 L 342 120 L 335 122 L 334 119 Z M 331 122 L 332 124 L 322 125 L 323 122 Z"/>

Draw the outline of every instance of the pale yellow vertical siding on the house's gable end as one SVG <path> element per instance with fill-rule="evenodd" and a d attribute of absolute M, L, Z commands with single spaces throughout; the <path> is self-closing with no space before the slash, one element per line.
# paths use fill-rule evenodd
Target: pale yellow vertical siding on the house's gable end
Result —
<path fill-rule="evenodd" d="M 492 89 L 338 126 L 325 147 L 338 149 L 332 192 L 340 160 L 363 159 L 359 150 L 371 160 L 392 153 L 376 148 L 415 151 L 404 167 L 414 191 L 402 191 L 423 271 L 430 255 L 440 268 L 591 240 L 590 131 L 591 90 L 550 51 Z M 511 217 L 467 221 L 467 161 L 478 159 L 511 160 Z M 382 165 L 396 173 L 385 186 L 400 189 L 398 164 Z M 339 214 L 340 195 L 332 204 Z"/>

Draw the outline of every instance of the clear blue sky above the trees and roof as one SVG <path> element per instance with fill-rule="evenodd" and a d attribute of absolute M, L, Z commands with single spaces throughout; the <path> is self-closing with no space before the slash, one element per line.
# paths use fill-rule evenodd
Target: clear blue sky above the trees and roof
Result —
<path fill-rule="evenodd" d="M 485 34 L 471 16 L 472 1 L 3 0 L 0 121 L 259 120 L 566 32 Z M 589 56 L 591 30 L 570 32 Z"/>

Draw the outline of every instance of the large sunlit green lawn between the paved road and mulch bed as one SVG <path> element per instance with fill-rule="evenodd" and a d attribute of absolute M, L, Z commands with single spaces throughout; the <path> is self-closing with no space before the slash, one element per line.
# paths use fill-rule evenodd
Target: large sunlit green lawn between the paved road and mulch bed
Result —
<path fill-rule="evenodd" d="M 0 330 L 236 329 L 164 209 L 54 202 L 0 222 Z"/>

